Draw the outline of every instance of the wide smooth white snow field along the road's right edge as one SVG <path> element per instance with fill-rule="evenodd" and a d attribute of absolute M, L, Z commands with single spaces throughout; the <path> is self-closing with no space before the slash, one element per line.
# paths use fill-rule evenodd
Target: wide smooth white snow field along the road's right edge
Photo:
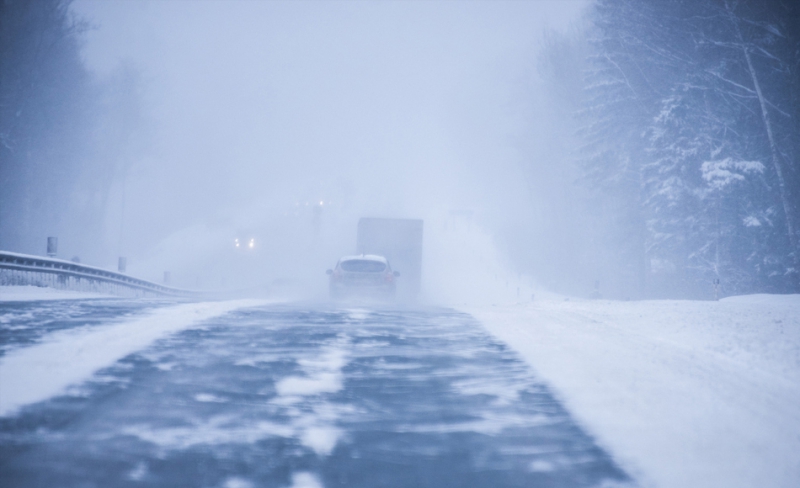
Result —
<path fill-rule="evenodd" d="M 642 486 L 800 486 L 800 295 L 467 311 Z"/>

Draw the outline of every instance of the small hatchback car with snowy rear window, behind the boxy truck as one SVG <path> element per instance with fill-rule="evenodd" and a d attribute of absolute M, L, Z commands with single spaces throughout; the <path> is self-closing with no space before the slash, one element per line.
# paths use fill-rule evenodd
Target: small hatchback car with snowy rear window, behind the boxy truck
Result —
<path fill-rule="evenodd" d="M 336 267 L 327 271 L 330 294 L 342 298 L 392 299 L 400 273 L 392 271 L 389 261 L 375 254 L 344 256 Z"/>

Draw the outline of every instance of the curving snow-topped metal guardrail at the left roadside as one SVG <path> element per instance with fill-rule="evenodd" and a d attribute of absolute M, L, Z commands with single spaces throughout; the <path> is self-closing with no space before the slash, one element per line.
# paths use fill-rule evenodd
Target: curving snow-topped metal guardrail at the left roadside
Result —
<path fill-rule="evenodd" d="M 7 251 L 0 251 L 1 285 L 47 286 L 123 296 L 192 297 L 200 294 L 95 266 Z"/>

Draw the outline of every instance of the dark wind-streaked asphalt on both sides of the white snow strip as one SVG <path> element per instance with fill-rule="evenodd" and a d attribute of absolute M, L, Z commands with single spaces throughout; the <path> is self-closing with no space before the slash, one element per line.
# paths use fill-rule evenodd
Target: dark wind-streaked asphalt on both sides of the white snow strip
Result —
<path fill-rule="evenodd" d="M 0 303 L 0 354 L 168 305 Z M 630 484 L 512 351 L 441 308 L 240 309 L 0 418 L 9 488 Z"/>

